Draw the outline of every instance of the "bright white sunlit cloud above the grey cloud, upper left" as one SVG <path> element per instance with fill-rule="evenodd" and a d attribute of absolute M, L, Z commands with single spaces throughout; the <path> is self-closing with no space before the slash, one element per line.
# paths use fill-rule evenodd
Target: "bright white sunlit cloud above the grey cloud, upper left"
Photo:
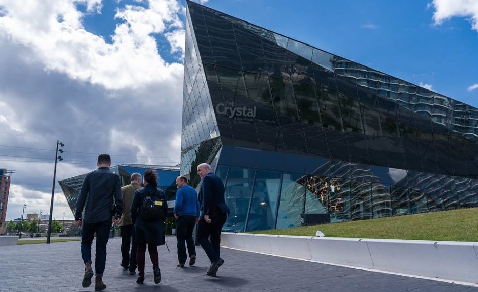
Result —
<path fill-rule="evenodd" d="M 37 0 L 27 6 L 17 0 L 0 0 L 7 11 L 0 17 L 0 33 L 31 48 L 47 70 L 107 89 L 171 81 L 171 75 L 182 72 L 181 64 L 167 63 L 158 54 L 153 37 L 170 29 L 182 30 L 181 5 L 176 0 L 150 0 L 147 9 L 126 5 L 118 10 L 115 18 L 124 22 L 116 25 L 111 44 L 84 29 L 78 2 L 91 12 L 101 8 L 99 0 Z M 170 39 L 177 50 L 180 42 Z"/>

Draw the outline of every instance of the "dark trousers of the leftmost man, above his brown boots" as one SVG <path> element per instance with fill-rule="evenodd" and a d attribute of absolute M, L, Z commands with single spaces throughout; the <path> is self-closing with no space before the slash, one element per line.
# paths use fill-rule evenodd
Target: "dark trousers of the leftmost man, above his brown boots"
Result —
<path fill-rule="evenodd" d="M 110 228 L 111 219 L 97 223 L 83 222 L 82 258 L 85 264 L 91 261 L 91 244 L 96 232 L 96 256 L 94 263 L 96 276 L 103 276 L 105 271 L 106 243 L 108 243 Z"/>

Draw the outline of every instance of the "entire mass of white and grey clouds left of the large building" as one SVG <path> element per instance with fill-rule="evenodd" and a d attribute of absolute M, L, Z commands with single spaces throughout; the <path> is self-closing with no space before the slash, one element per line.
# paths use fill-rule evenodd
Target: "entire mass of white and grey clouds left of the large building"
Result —
<path fill-rule="evenodd" d="M 77 8 L 101 13 L 100 0 L 0 0 L 1 144 L 54 151 L 61 140 L 57 181 L 93 170 L 99 153 L 119 154 L 114 163 L 177 163 L 183 64 L 165 61 L 155 37 L 184 54 L 184 7 L 145 3 L 117 11 L 108 43 L 85 29 Z M 19 217 L 24 203 L 28 213 L 49 212 L 52 151 L 0 147 L 2 155 L 23 157 L 0 156 L 2 168 L 16 170 L 7 219 Z M 63 211 L 72 217 L 57 183 L 54 217 Z"/>

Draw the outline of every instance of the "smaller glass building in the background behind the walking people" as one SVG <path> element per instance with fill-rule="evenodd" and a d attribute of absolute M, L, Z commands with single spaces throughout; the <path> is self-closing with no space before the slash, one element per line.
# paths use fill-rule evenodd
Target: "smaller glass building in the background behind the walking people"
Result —
<path fill-rule="evenodd" d="M 157 171 L 157 185 L 165 192 L 169 209 L 173 209 L 177 190 L 176 177 L 179 175 L 179 168 L 177 166 L 122 164 L 110 167 L 111 171 L 120 175 L 122 187 L 131 183 L 131 174 L 137 172 L 143 178 L 143 173 L 148 169 L 155 169 Z M 73 215 L 76 213 L 76 200 L 78 199 L 85 176 L 86 173 L 58 181 Z"/>

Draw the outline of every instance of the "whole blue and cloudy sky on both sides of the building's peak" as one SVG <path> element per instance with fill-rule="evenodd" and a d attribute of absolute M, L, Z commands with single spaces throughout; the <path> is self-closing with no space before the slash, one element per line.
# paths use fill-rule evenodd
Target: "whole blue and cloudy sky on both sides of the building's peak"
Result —
<path fill-rule="evenodd" d="M 478 107 L 478 1 L 197 0 Z M 0 0 L 7 220 L 49 213 L 57 181 L 180 160 L 184 0 Z M 58 183 L 53 217 L 73 219 Z"/>

